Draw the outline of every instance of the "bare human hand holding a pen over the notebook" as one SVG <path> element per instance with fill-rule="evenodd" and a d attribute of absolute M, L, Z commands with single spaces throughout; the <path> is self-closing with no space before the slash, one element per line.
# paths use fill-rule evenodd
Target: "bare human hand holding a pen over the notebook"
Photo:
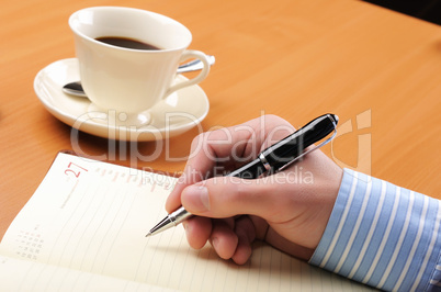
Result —
<path fill-rule="evenodd" d="M 264 115 L 245 124 L 207 132 L 192 143 L 190 158 L 166 209 L 181 204 L 191 247 L 208 240 L 220 258 L 242 265 L 251 244 L 264 240 L 290 255 L 309 259 L 336 201 L 342 170 L 320 150 L 281 172 L 256 180 L 214 177 L 231 171 L 293 133 L 281 117 Z"/>

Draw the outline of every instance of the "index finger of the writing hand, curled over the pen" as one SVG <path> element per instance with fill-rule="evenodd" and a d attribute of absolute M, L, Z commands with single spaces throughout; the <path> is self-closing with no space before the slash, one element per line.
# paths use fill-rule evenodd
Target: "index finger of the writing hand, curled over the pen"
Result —
<path fill-rule="evenodd" d="M 293 131 L 285 120 L 264 115 L 240 125 L 200 134 L 193 139 L 184 171 L 167 199 L 167 211 L 172 212 L 181 205 L 180 195 L 185 187 L 256 159 L 262 149 Z"/>

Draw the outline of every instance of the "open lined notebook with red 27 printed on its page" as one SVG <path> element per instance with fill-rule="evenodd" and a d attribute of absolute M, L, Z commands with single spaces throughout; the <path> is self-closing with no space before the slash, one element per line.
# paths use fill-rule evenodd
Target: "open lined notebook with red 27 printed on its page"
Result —
<path fill-rule="evenodd" d="M 176 178 L 60 153 L 0 244 L 2 291 L 363 291 L 263 243 L 245 266 L 178 226 L 146 238 L 166 215 Z"/>

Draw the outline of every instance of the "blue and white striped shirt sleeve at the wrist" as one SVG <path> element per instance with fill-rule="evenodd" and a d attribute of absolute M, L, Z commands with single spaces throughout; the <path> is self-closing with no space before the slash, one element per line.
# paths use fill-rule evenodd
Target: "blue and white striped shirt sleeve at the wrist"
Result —
<path fill-rule="evenodd" d="M 309 262 L 386 291 L 441 291 L 439 200 L 344 169 Z"/>

